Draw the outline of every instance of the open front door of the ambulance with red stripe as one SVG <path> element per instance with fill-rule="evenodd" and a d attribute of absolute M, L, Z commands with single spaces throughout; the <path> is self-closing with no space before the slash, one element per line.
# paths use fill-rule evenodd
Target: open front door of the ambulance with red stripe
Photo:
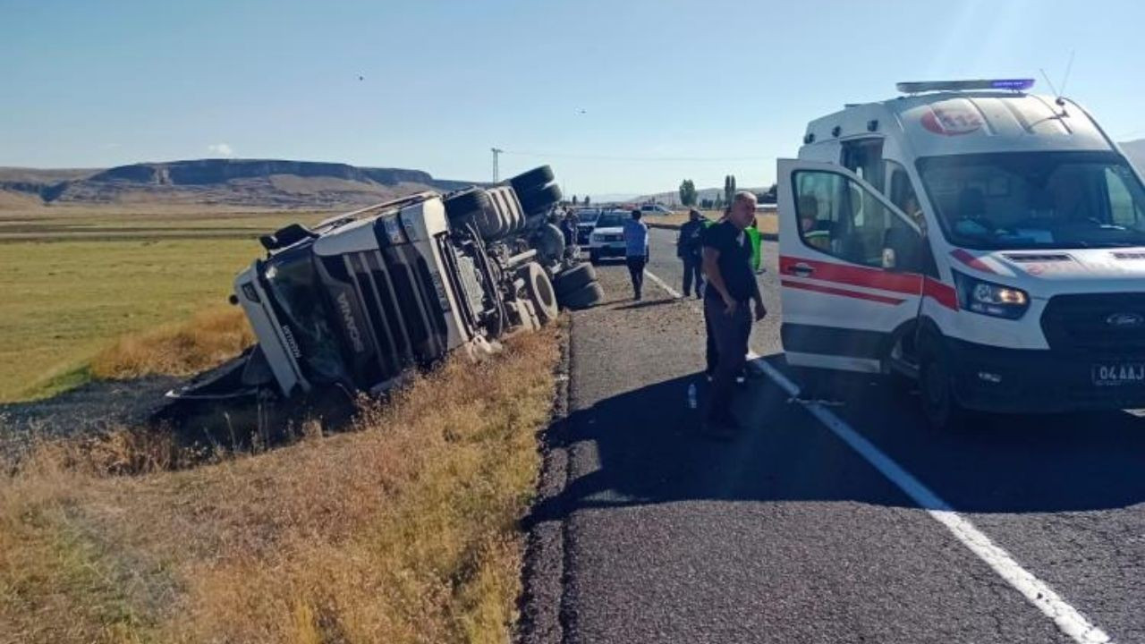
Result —
<path fill-rule="evenodd" d="M 881 371 L 918 314 L 918 226 L 839 165 L 780 159 L 777 180 L 788 363 Z"/>

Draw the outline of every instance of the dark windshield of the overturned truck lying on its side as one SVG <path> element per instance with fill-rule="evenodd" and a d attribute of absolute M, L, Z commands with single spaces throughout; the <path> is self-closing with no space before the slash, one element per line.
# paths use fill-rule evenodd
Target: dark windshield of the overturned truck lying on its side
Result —
<path fill-rule="evenodd" d="M 262 276 L 283 325 L 298 341 L 307 376 L 318 383 L 348 382 L 309 246 L 278 254 L 266 265 Z"/>

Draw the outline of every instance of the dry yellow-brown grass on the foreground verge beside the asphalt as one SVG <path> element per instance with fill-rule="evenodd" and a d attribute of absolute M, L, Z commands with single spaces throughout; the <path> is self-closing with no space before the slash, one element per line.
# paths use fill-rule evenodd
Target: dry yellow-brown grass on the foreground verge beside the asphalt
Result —
<path fill-rule="evenodd" d="M 0 478 L 0 642 L 507 641 L 558 354 L 455 356 L 357 431 L 192 470 L 45 446 Z"/>

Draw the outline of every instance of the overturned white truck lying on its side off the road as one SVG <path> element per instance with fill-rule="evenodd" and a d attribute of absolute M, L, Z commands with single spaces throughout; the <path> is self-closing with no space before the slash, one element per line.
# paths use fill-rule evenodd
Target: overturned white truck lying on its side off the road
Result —
<path fill-rule="evenodd" d="M 258 337 L 242 360 L 172 391 L 175 400 L 330 390 L 380 393 L 457 348 L 487 351 L 558 306 L 602 298 L 592 266 L 550 215 L 548 166 L 504 184 L 426 191 L 261 238 L 235 280 Z"/>

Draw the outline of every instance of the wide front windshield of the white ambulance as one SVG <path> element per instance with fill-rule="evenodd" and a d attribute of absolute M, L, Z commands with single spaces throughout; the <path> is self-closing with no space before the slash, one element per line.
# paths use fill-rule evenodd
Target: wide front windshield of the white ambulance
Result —
<path fill-rule="evenodd" d="M 947 239 L 979 249 L 1145 245 L 1145 190 L 1113 152 L 1002 152 L 918 160 Z"/>

